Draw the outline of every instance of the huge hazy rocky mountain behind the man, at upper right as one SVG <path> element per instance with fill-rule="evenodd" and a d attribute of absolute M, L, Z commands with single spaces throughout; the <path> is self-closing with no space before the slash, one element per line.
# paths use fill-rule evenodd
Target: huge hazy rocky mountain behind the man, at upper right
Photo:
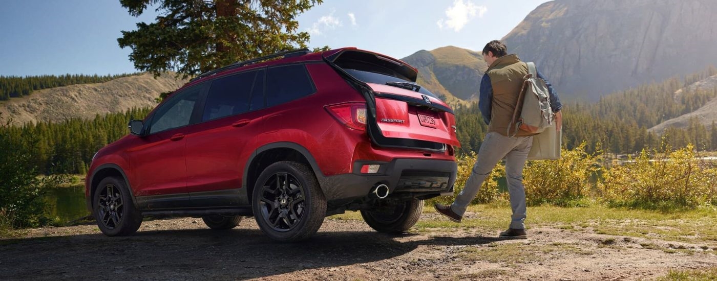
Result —
<path fill-rule="evenodd" d="M 564 95 L 600 96 L 717 64 L 714 0 L 556 0 L 503 41 Z"/>

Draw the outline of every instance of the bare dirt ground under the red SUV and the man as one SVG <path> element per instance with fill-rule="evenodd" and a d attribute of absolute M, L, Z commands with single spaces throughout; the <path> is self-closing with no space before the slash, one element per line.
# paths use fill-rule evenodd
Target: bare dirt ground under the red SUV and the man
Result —
<path fill-rule="evenodd" d="M 0 280 L 650 280 L 717 267 L 713 246 L 559 227 L 532 228 L 528 240 L 497 232 L 384 235 L 327 218 L 312 239 L 282 244 L 253 218 L 229 231 L 194 218 L 150 220 L 131 237 L 105 237 L 96 225 L 47 227 L 0 240 Z"/>

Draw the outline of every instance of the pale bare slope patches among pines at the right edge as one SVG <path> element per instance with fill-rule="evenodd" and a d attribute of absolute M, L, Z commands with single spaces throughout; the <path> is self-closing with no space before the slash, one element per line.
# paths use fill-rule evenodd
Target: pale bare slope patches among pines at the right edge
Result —
<path fill-rule="evenodd" d="M 677 90 L 677 92 L 675 92 L 675 99 L 680 99 L 680 97 L 685 93 L 700 91 L 717 92 L 717 75 L 708 77 L 690 84 L 688 87 Z M 712 99 L 710 102 L 703 105 L 703 107 L 700 107 L 693 112 L 657 124 L 657 126 L 650 128 L 650 132 L 660 134 L 668 127 L 685 128 L 688 127 L 690 119 L 693 118 L 696 118 L 698 122 L 703 124 L 705 127 L 710 127 L 712 122 L 717 122 L 717 98 Z"/>

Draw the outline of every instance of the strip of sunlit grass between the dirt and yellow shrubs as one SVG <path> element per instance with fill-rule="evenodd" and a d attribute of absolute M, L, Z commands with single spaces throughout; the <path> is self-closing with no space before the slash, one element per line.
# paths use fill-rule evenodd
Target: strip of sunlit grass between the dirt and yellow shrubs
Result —
<path fill-rule="evenodd" d="M 435 213 L 424 207 L 424 213 Z M 479 204 L 468 208 L 470 219 L 451 222 L 437 215 L 419 220 L 414 230 L 427 232 L 433 229 L 502 230 L 508 227 L 511 208 L 507 204 Z M 361 220 L 359 212 L 346 212 L 329 220 Z M 526 219 L 531 227 L 554 227 L 566 231 L 593 232 L 602 235 L 619 235 L 660 239 L 676 242 L 705 243 L 717 247 L 717 209 L 696 209 L 683 212 L 658 212 L 643 209 L 624 209 L 594 204 L 590 207 L 554 207 L 549 205 L 528 207 Z M 613 241 L 614 242 L 614 241 Z"/>

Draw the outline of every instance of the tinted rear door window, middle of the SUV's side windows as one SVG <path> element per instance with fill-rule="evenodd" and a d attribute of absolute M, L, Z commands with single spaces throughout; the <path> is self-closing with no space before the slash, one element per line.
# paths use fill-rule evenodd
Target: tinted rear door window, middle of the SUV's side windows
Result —
<path fill-rule="evenodd" d="M 206 95 L 201 121 L 247 112 L 256 75 L 257 72 L 244 72 L 214 80 Z"/>

